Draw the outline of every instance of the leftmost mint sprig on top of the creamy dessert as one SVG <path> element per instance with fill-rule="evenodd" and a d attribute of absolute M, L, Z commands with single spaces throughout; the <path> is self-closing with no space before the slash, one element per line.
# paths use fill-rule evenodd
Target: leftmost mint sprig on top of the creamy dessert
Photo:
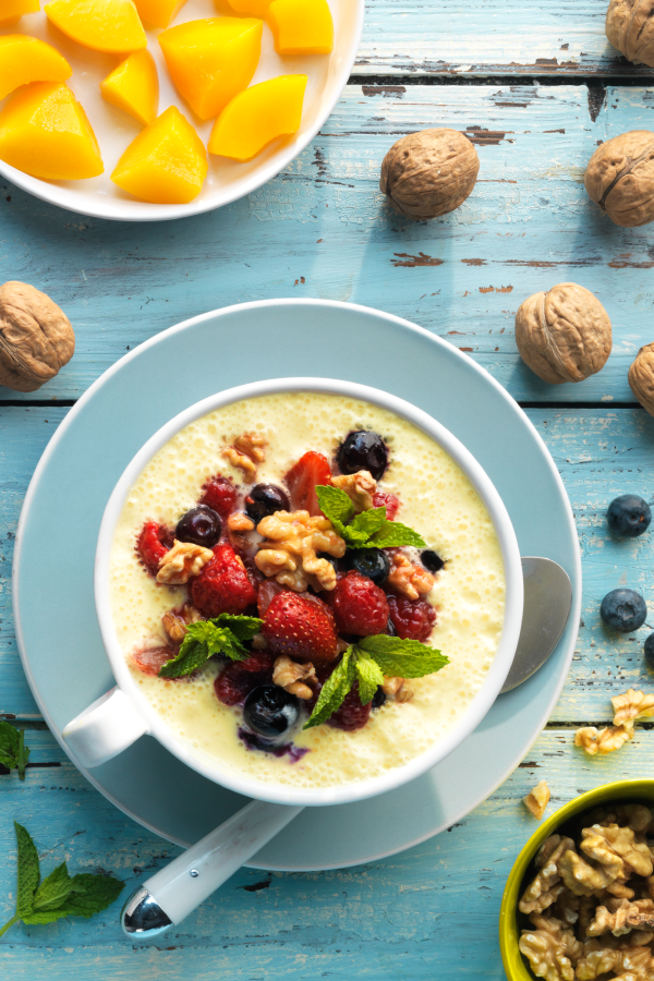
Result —
<path fill-rule="evenodd" d="M 201 668 L 214 654 L 244 661 L 250 654 L 245 641 L 262 629 L 258 617 L 220 614 L 213 620 L 189 623 L 179 654 L 159 670 L 159 678 L 183 678 Z"/>

